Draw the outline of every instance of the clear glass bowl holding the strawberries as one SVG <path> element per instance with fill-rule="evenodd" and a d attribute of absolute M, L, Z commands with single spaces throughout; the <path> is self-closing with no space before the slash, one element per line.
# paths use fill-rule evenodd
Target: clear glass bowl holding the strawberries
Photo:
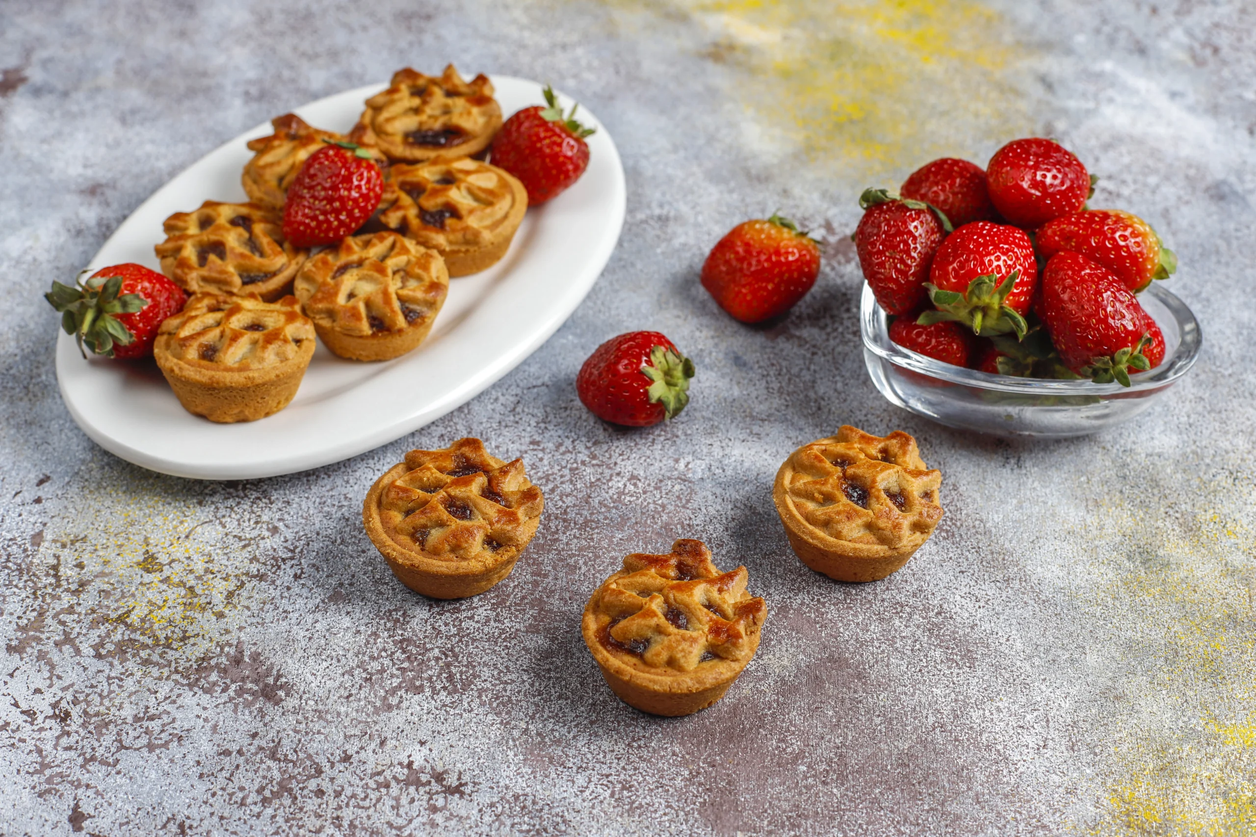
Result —
<path fill-rule="evenodd" d="M 859 331 L 872 382 L 892 403 L 951 427 L 996 436 L 1064 439 L 1133 418 L 1191 371 L 1199 323 L 1159 283 L 1139 302 L 1164 332 L 1164 361 L 1132 375 L 1132 386 L 990 375 L 934 361 L 889 339 L 889 318 L 864 284 Z"/>

